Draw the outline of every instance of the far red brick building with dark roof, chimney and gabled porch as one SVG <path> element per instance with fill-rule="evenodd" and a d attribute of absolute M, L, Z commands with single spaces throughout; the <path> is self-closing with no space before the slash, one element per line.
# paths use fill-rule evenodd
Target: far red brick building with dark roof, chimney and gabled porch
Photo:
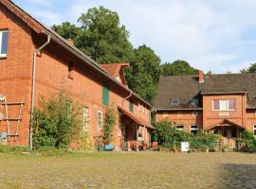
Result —
<path fill-rule="evenodd" d="M 232 139 L 247 129 L 256 135 L 256 74 L 160 77 L 156 121 L 177 129 L 214 130 Z"/>

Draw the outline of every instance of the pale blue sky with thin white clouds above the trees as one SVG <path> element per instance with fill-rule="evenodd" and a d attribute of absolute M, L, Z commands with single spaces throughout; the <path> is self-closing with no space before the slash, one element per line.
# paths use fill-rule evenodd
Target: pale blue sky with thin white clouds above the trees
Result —
<path fill-rule="evenodd" d="M 162 62 L 187 60 L 205 72 L 233 73 L 256 61 L 255 0 L 13 0 L 46 26 L 104 6 L 119 13 L 137 47 Z"/>

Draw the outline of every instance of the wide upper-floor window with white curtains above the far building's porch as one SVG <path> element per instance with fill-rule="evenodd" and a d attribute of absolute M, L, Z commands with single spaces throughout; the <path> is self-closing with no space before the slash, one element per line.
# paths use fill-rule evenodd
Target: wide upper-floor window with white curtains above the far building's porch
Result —
<path fill-rule="evenodd" d="M 212 100 L 213 111 L 234 111 L 235 99 Z"/>

